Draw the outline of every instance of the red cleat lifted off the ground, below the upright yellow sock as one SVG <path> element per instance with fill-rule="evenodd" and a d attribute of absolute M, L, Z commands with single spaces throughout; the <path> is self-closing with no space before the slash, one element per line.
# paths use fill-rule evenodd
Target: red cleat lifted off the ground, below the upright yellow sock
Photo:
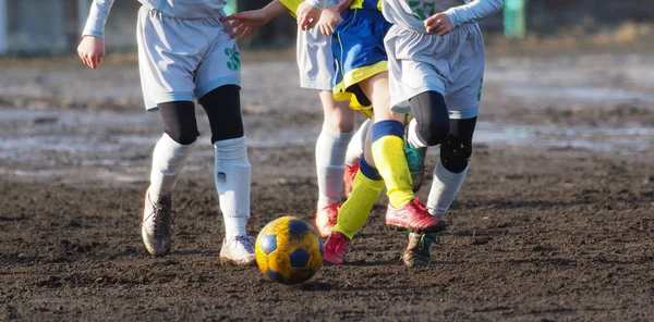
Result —
<path fill-rule="evenodd" d="M 393 208 L 388 203 L 386 225 L 414 233 L 437 233 L 445 228 L 445 223 L 429 214 L 417 197 L 400 208 Z"/>

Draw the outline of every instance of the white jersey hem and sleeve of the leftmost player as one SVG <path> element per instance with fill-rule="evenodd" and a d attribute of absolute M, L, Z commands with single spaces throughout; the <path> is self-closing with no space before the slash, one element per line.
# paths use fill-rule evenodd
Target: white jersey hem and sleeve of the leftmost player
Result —
<path fill-rule="evenodd" d="M 105 37 L 105 23 L 114 0 L 94 0 L 83 35 Z M 175 18 L 202 18 L 221 11 L 227 0 L 138 0 L 146 9 Z"/>

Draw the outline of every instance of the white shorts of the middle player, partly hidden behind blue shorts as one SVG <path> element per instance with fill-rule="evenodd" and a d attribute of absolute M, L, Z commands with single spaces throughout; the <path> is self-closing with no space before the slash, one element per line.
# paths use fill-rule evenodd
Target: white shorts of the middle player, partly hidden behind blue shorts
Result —
<path fill-rule="evenodd" d="M 298 28 L 298 67 L 300 87 L 331 90 L 335 75 L 331 36 L 325 36 L 317 26 L 307 32 Z"/>

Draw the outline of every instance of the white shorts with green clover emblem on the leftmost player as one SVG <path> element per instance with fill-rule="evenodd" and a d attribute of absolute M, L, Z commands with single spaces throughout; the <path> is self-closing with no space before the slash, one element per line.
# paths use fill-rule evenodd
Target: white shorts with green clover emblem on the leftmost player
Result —
<path fill-rule="evenodd" d="M 173 18 L 142 7 L 136 39 L 145 108 L 192 101 L 223 85 L 241 86 L 241 54 L 223 13 Z"/>

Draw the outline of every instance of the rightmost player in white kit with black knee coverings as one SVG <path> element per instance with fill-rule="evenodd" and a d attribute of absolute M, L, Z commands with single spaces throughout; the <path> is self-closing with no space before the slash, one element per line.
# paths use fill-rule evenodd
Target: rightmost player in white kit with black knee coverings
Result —
<path fill-rule="evenodd" d="M 385 39 L 391 110 L 412 112 L 409 148 L 421 161 L 428 146 L 440 145 L 427 201 L 438 219 L 456 198 L 472 154 L 485 61 L 477 22 L 501 7 L 502 0 L 383 2 L 384 16 L 393 24 Z M 428 264 L 434 240 L 411 233 L 404 264 Z"/>

